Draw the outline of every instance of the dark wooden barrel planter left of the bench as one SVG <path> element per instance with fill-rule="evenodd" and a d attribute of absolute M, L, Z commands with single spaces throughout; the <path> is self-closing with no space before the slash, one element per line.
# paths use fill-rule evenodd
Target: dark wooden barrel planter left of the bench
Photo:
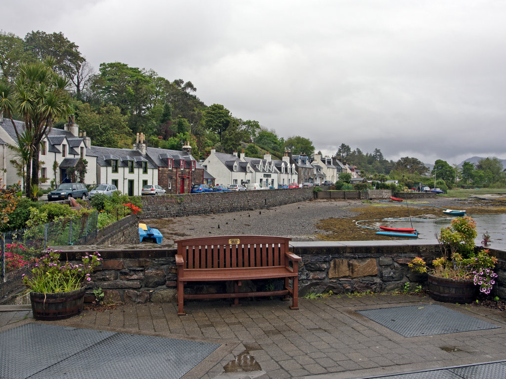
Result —
<path fill-rule="evenodd" d="M 30 292 L 33 317 L 36 320 L 60 320 L 82 311 L 86 287 L 70 292 L 46 294 Z"/>

